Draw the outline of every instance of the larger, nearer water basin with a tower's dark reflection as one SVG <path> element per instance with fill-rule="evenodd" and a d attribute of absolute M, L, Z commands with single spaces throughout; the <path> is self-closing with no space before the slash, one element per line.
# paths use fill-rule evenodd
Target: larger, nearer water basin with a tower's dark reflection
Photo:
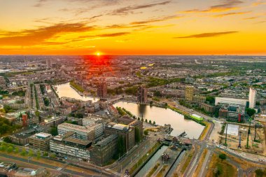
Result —
<path fill-rule="evenodd" d="M 170 124 L 174 129 L 171 133 L 173 136 L 177 136 L 185 131 L 190 139 L 198 139 L 204 129 L 204 126 L 193 120 L 186 120 L 183 115 L 176 113 L 169 108 L 159 108 L 156 106 L 127 103 L 124 101 L 120 101 L 113 106 L 125 108 L 139 118 L 143 115 L 144 120 L 155 121 L 156 125 Z"/>

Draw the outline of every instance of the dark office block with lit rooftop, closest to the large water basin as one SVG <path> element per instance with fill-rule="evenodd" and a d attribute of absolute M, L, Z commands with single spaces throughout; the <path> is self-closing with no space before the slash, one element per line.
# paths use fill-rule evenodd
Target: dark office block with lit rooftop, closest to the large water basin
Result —
<path fill-rule="evenodd" d="M 125 139 L 125 150 L 128 151 L 136 144 L 134 130 L 134 127 L 111 122 L 106 125 L 105 134 L 106 136 L 111 134 L 118 134 L 118 136 L 123 136 L 123 139 Z"/>

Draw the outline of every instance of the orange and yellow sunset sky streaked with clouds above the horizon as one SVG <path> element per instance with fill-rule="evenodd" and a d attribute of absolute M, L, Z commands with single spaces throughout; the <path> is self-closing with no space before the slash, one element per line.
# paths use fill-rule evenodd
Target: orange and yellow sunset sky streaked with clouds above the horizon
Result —
<path fill-rule="evenodd" d="M 0 0 L 0 54 L 266 55 L 266 0 Z"/>

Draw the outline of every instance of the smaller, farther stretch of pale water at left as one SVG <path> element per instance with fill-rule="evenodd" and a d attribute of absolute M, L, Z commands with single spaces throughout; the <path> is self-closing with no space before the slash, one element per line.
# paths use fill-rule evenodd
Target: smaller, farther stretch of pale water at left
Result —
<path fill-rule="evenodd" d="M 69 97 L 69 98 L 73 98 L 73 99 L 80 99 L 82 101 L 88 101 L 88 100 L 92 100 L 92 102 L 96 102 L 99 99 L 94 98 L 94 97 L 85 97 L 85 96 L 81 96 L 80 94 L 78 94 L 78 92 L 76 92 L 76 90 L 74 90 L 69 83 L 63 83 L 63 84 L 59 84 L 59 85 L 55 85 L 55 88 L 57 88 L 57 94 L 59 96 L 59 98 L 61 97 Z"/>

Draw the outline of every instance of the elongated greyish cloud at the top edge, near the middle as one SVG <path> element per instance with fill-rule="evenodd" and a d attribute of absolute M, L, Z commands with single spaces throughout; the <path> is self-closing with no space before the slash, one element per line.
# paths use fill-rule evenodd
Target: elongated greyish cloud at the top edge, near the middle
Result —
<path fill-rule="evenodd" d="M 152 8 L 154 6 L 162 6 L 170 3 L 171 1 L 162 1 L 160 3 L 148 3 L 144 5 L 137 5 L 137 6 L 126 6 L 123 8 L 118 8 L 116 10 L 113 10 L 109 15 L 128 15 L 130 13 L 133 13 L 133 10 L 139 10 L 143 8 Z"/>

